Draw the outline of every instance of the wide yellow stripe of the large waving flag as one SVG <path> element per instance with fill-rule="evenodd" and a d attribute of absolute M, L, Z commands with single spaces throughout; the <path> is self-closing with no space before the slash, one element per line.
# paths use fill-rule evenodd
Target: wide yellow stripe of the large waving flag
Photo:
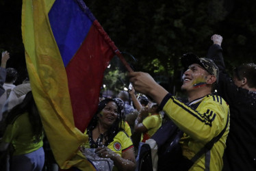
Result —
<path fill-rule="evenodd" d="M 95 170 L 79 152 L 88 136 L 75 127 L 66 70 L 49 24 L 53 0 L 23 0 L 22 34 L 32 93 L 53 155 L 62 169 Z"/>

